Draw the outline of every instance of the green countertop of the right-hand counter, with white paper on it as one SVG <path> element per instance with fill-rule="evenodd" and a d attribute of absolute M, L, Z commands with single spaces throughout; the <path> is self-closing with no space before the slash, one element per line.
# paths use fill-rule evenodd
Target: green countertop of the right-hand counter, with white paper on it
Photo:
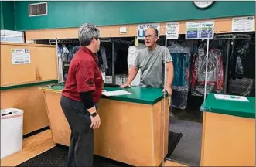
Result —
<path fill-rule="evenodd" d="M 206 101 L 201 106 L 201 111 L 217 114 L 234 115 L 242 118 L 255 118 L 255 97 L 247 97 L 249 101 L 228 101 L 208 94 Z"/>

